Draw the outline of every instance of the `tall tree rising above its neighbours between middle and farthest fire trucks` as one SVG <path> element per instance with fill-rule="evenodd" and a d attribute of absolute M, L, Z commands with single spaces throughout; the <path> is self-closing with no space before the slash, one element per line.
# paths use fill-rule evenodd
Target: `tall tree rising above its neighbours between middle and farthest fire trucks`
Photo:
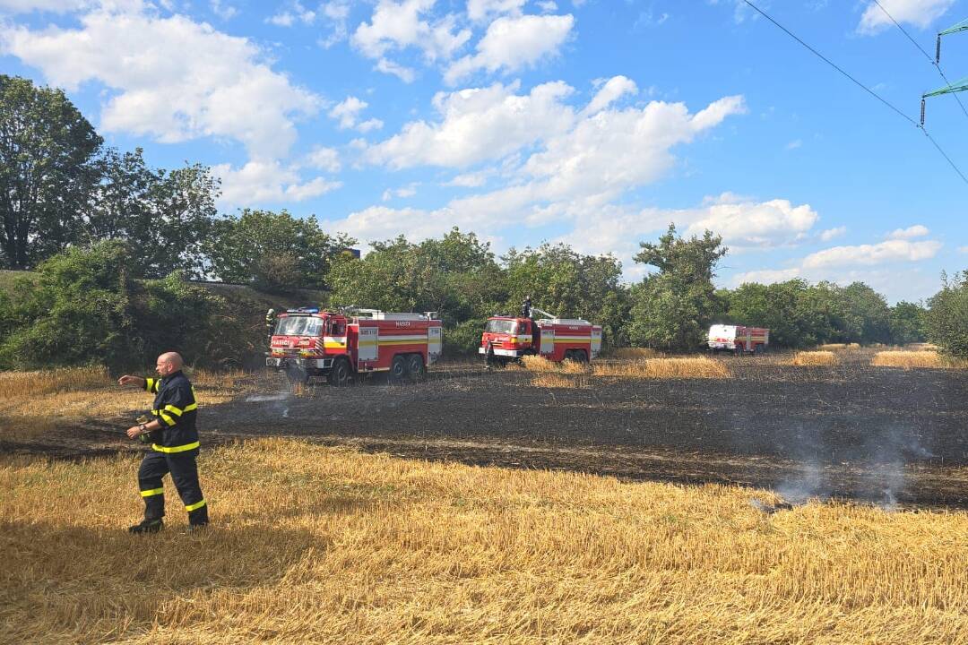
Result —
<path fill-rule="evenodd" d="M 727 250 L 722 238 L 706 231 L 685 240 L 676 225 L 657 244 L 640 243 L 636 262 L 657 268 L 632 288 L 628 336 L 633 344 L 669 350 L 696 347 L 711 320 L 724 311 L 712 286 L 715 265 Z"/>

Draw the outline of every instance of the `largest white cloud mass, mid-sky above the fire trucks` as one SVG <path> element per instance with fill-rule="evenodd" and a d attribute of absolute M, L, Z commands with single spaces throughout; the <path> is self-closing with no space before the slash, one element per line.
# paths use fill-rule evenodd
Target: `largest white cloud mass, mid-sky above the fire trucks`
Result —
<path fill-rule="evenodd" d="M 614 200 L 668 170 L 676 161 L 674 147 L 745 109 L 741 97 L 726 97 L 695 113 L 682 103 L 662 102 L 621 109 L 606 105 L 589 113 L 567 103 L 573 90 L 564 83 L 538 85 L 527 94 L 518 89 L 517 84 L 496 84 L 439 94 L 438 121 L 410 123 L 364 151 L 371 162 L 399 168 L 466 168 L 498 161 L 497 166 L 458 175 L 449 185 L 474 188 L 500 176 L 507 180 L 504 186 L 433 210 L 374 206 L 331 222 L 332 230 L 347 230 L 363 240 L 401 231 L 419 239 L 458 225 L 493 237 L 508 227 L 567 223 L 573 233 L 563 241 L 584 252 L 615 251 L 627 262 L 641 239 L 636 236 L 663 227 L 671 212 L 636 211 Z M 716 206 L 720 204 L 713 201 L 685 212 L 683 225 L 710 216 Z M 763 235 L 780 242 L 796 238 L 816 217 L 809 206 L 782 200 L 759 208 L 793 229 L 781 234 L 778 226 L 764 223 Z M 750 211 L 751 218 L 757 217 L 752 205 Z"/>

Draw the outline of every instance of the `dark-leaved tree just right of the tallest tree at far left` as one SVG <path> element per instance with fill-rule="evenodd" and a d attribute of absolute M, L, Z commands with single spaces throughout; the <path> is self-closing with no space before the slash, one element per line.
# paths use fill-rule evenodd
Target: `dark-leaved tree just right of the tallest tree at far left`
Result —
<path fill-rule="evenodd" d="M 204 273 L 202 242 L 216 218 L 219 180 L 200 164 L 171 172 L 154 170 L 142 150 L 107 150 L 99 161 L 102 179 L 83 221 L 87 243 L 127 240 L 146 278 L 182 270 Z"/>

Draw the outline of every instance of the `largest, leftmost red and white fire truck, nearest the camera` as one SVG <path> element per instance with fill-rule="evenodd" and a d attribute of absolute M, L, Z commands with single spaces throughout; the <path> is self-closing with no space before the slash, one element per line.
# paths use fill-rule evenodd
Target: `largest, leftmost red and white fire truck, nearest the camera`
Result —
<path fill-rule="evenodd" d="M 332 385 L 378 371 L 419 377 L 439 359 L 442 330 L 433 312 L 287 309 L 276 320 L 265 365 L 296 379 L 326 376 Z"/>

